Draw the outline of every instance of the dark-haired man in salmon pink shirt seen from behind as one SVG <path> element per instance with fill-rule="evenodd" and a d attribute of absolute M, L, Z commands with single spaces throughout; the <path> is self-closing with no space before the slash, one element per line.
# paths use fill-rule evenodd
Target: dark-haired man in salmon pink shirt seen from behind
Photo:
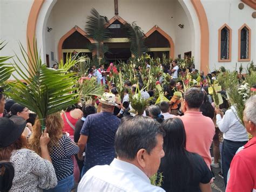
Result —
<path fill-rule="evenodd" d="M 202 156 L 210 168 L 212 163 L 210 147 L 215 134 L 215 127 L 211 118 L 200 112 L 204 101 L 204 93 L 199 88 L 189 88 L 184 94 L 183 121 L 186 131 L 186 149 Z"/>

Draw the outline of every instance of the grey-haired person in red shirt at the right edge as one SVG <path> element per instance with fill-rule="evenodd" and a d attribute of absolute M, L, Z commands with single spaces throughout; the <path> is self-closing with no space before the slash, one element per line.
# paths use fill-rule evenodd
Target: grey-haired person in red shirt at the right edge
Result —
<path fill-rule="evenodd" d="M 256 191 L 256 95 L 245 104 L 244 124 L 246 131 L 253 135 L 246 145 L 238 149 L 230 166 L 230 178 L 226 192 Z"/>

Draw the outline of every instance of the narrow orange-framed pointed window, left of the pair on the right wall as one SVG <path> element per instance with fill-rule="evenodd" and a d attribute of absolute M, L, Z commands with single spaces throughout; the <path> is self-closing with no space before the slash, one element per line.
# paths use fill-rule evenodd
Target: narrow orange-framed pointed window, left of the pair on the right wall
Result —
<path fill-rule="evenodd" d="M 219 62 L 231 61 L 231 32 L 226 24 L 219 29 Z"/>

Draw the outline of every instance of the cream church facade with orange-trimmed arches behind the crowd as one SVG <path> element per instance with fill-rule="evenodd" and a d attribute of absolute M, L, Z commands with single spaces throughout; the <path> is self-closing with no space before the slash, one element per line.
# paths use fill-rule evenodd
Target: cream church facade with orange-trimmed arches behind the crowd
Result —
<path fill-rule="evenodd" d="M 0 56 L 20 56 L 18 42 L 36 37 L 50 67 L 68 52 L 92 53 L 85 24 L 95 8 L 109 19 L 107 60 L 132 57 L 123 26 L 142 28 L 152 57 L 194 58 L 199 71 L 244 68 L 256 56 L 255 0 L 1 0 Z"/>

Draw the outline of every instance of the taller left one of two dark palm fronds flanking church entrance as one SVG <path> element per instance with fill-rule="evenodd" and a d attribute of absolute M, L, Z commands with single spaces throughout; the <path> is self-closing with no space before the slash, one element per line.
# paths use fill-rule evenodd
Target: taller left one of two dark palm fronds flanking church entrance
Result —
<path fill-rule="evenodd" d="M 95 40 L 96 43 L 89 45 L 88 49 L 91 52 L 95 52 L 95 60 L 100 63 L 100 59 L 104 58 L 104 53 L 106 53 L 109 48 L 107 45 L 104 45 L 103 42 L 110 38 L 110 31 L 105 28 L 105 25 L 109 23 L 109 20 L 105 16 L 99 15 L 98 11 L 95 8 L 91 9 L 91 16 L 88 16 L 89 19 L 85 25 L 85 32 L 87 37 Z"/>

